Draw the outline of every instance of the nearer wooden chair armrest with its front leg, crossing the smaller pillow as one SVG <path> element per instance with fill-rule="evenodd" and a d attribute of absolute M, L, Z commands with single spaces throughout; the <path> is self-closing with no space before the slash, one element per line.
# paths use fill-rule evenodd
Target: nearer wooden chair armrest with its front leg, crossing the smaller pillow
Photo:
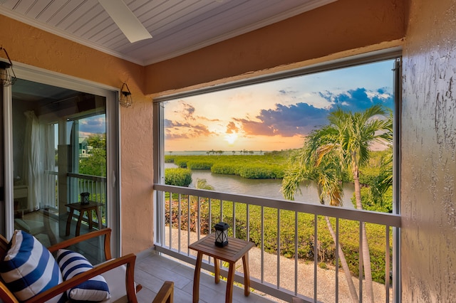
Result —
<path fill-rule="evenodd" d="M 86 272 L 82 272 L 75 277 L 72 277 L 69 280 L 62 282 L 51 289 L 46 290 L 46 292 L 41 292 L 41 294 L 37 294 L 35 297 L 28 299 L 24 302 L 31 303 L 31 302 L 46 302 L 48 299 L 52 299 L 56 297 L 56 295 L 65 292 L 68 289 L 71 289 L 77 285 L 80 285 L 82 282 L 87 281 L 88 279 L 95 277 L 97 275 L 103 274 L 103 272 L 108 272 L 115 267 L 120 265 L 127 265 L 127 273 L 125 276 L 125 288 L 127 289 L 127 297 L 128 302 L 136 303 L 138 302 L 136 299 L 136 292 L 135 292 L 135 283 L 134 283 L 134 275 L 135 275 L 135 260 L 136 255 L 133 253 L 129 255 L 125 255 L 123 257 L 118 257 L 117 259 L 109 260 L 108 262 L 104 262 L 101 265 L 93 267 L 91 270 Z"/>

